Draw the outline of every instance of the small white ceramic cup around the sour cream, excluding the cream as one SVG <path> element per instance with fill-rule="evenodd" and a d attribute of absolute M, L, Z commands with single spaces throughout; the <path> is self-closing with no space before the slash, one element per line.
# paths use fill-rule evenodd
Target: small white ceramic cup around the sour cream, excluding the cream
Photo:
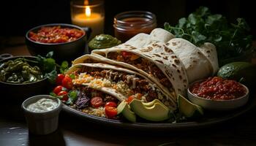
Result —
<path fill-rule="evenodd" d="M 39 99 L 43 98 L 57 101 L 57 107 L 47 112 L 31 112 L 30 110 L 27 110 L 29 104 L 35 103 Z M 29 132 L 32 134 L 50 134 L 53 131 L 56 131 L 59 123 L 59 112 L 61 111 L 61 105 L 61 100 L 53 98 L 53 96 L 49 95 L 32 96 L 23 101 L 21 108 L 24 111 Z"/>

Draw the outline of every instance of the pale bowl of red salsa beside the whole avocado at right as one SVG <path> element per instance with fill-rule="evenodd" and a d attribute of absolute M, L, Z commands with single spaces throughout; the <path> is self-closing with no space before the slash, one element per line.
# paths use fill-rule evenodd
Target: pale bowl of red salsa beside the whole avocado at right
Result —
<path fill-rule="evenodd" d="M 244 106 L 249 89 L 235 80 L 208 77 L 189 85 L 188 98 L 206 110 L 233 110 Z"/>

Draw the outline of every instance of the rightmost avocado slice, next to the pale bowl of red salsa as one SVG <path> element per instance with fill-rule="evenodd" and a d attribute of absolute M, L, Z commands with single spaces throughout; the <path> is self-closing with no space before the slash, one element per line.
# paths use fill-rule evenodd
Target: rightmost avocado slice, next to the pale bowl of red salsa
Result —
<path fill-rule="evenodd" d="M 181 114 L 187 118 L 193 118 L 203 115 L 203 108 L 197 104 L 193 104 L 184 96 L 178 95 L 178 109 Z"/>

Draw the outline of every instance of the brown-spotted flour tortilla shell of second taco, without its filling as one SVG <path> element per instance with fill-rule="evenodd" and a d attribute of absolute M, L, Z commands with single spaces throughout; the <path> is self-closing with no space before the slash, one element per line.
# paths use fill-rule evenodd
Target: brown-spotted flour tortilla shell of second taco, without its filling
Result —
<path fill-rule="evenodd" d="M 107 58 L 108 53 L 119 51 L 135 53 L 136 55 L 139 55 L 142 58 L 146 58 L 147 61 L 150 61 L 151 63 L 155 64 L 156 66 L 158 66 L 160 70 L 162 70 L 162 72 L 165 74 L 165 76 L 170 81 L 173 87 L 171 89 L 167 89 L 159 82 L 157 77 L 151 76 L 150 74 L 130 64 L 126 64 L 124 62 L 119 61 L 113 61 Z M 162 88 L 165 92 L 169 93 L 170 97 L 172 97 L 175 100 L 178 94 L 186 95 L 188 79 L 186 71 L 184 69 L 184 65 L 173 53 L 173 51 L 170 50 L 170 48 L 168 48 L 164 43 L 156 42 L 143 48 L 136 48 L 130 45 L 123 45 L 122 47 L 118 46 L 103 50 L 94 50 L 92 53 L 102 55 L 102 57 L 105 58 L 104 61 L 108 62 L 108 64 L 124 66 L 126 68 L 135 70 L 136 72 L 140 72 L 140 74 L 150 77 L 151 80 L 156 82 L 160 88 Z"/>

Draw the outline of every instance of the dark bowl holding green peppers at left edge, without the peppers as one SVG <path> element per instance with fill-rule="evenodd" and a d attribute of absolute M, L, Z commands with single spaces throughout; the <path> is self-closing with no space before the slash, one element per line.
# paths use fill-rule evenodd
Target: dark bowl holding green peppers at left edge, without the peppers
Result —
<path fill-rule="evenodd" d="M 15 60 L 16 58 L 27 58 L 30 60 L 35 60 L 34 56 L 22 55 L 15 56 L 11 58 L 7 58 L 0 61 L 0 65 L 6 61 Z M 29 63 L 32 66 L 37 64 Z M 1 89 L 1 101 L 7 101 L 12 104 L 20 104 L 24 99 L 29 98 L 30 96 L 35 96 L 38 94 L 44 94 L 48 91 L 48 80 L 47 78 L 43 78 L 37 82 L 30 83 L 9 83 L 9 82 L 1 82 L 0 81 L 0 89 Z"/>

